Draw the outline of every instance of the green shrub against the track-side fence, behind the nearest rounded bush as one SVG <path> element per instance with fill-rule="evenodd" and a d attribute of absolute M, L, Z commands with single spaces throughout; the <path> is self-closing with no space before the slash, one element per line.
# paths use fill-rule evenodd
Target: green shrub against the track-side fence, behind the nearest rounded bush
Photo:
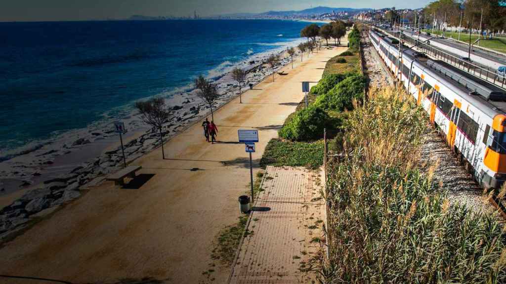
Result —
<path fill-rule="evenodd" d="M 352 75 L 339 82 L 326 94 L 316 99 L 315 105 L 324 110 L 353 110 L 353 99 L 363 100 L 365 79 L 362 75 Z"/>

